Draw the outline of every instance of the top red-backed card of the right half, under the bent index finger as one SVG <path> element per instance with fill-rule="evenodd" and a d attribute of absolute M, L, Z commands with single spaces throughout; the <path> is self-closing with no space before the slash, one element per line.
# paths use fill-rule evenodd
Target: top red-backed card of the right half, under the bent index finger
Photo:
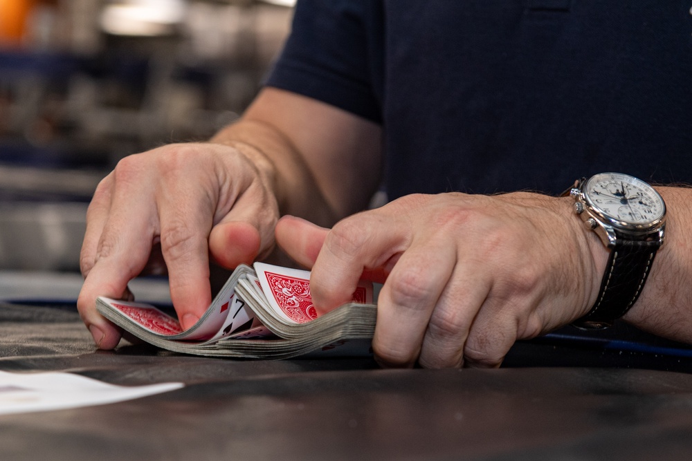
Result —
<path fill-rule="evenodd" d="M 282 319 L 305 323 L 317 318 L 310 294 L 310 272 L 255 263 L 255 272 L 269 305 Z M 372 303 L 372 283 L 358 283 L 354 302 Z"/>

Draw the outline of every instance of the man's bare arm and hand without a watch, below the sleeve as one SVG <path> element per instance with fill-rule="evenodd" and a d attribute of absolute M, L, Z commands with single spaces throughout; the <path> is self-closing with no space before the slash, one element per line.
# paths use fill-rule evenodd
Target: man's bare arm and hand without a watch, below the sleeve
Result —
<path fill-rule="evenodd" d="M 211 302 L 209 256 L 229 269 L 264 257 L 280 212 L 331 225 L 363 209 L 379 183 L 380 147 L 377 124 L 264 88 L 211 142 L 122 160 L 94 194 L 82 246 L 78 308 L 98 347 L 115 347 L 120 332 L 96 312 L 96 297 L 129 298 L 133 277 L 167 272 L 190 327 Z"/>

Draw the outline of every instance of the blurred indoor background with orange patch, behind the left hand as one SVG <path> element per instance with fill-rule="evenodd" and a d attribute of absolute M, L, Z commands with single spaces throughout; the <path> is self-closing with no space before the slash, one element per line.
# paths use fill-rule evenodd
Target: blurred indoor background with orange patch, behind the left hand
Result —
<path fill-rule="evenodd" d="M 235 120 L 292 6 L 0 0 L 0 297 L 37 283 L 18 273 L 79 271 L 86 206 L 120 158 Z"/>

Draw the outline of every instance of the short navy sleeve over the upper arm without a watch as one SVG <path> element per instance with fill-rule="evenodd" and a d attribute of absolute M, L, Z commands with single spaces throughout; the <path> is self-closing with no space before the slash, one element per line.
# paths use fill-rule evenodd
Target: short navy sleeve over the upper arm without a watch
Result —
<path fill-rule="evenodd" d="M 373 88 L 375 43 L 381 27 L 372 0 L 300 0 L 291 35 L 266 86 L 331 104 L 381 123 Z M 379 53 L 383 53 L 380 48 Z"/>

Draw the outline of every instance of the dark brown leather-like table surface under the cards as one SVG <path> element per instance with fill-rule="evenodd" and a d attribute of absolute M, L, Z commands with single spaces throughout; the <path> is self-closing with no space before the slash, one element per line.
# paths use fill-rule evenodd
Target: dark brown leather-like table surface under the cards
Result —
<path fill-rule="evenodd" d="M 185 387 L 0 416 L 0 459 L 688 459 L 692 360 L 603 344 L 520 343 L 498 370 L 96 351 L 72 303 L 4 302 L 0 370 Z"/>

